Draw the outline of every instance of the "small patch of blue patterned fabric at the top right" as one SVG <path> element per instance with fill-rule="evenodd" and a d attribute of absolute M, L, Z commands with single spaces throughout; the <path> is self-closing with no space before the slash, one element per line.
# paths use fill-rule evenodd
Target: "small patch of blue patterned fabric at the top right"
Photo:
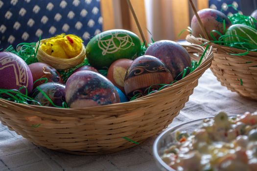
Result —
<path fill-rule="evenodd" d="M 241 13 L 241 0 L 209 0 L 210 8 L 222 11 L 225 15 L 231 15 L 237 13 L 233 7 L 228 7 L 227 5 L 233 4 L 234 7 Z"/>

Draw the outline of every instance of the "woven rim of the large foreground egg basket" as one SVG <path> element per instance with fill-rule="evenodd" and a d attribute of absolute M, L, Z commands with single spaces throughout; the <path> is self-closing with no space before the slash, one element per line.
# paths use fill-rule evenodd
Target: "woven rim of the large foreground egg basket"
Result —
<path fill-rule="evenodd" d="M 183 47 L 193 47 L 193 48 L 200 48 L 204 51 L 204 47 L 197 45 L 197 44 L 193 44 L 193 45 L 183 45 Z M 210 61 L 212 61 L 213 59 L 213 51 L 212 51 L 212 46 L 209 47 L 207 53 L 205 54 L 204 57 L 204 61 L 202 61 L 202 63 L 190 74 L 188 74 L 185 78 L 179 80 L 178 82 L 174 83 L 173 85 L 169 85 L 167 87 L 165 87 L 164 89 L 152 93 L 152 94 L 148 94 L 146 96 L 140 97 L 136 100 L 133 101 L 129 101 L 129 102 L 125 102 L 125 103 L 117 103 L 117 104 L 111 104 L 111 105 L 103 105 L 103 106 L 95 106 L 95 107 L 83 107 L 83 108 L 59 108 L 59 107 L 46 107 L 46 106 L 36 106 L 36 105 L 26 105 L 26 104 L 20 104 L 20 103 L 16 103 L 16 102 L 12 102 L 12 101 L 8 101 L 5 99 L 0 99 L 0 102 L 2 104 L 8 104 L 8 105 L 12 105 L 15 107 L 21 107 L 21 108 L 29 108 L 30 110 L 42 110 L 44 111 L 44 109 L 54 109 L 54 110 L 64 110 L 64 111 L 75 111 L 75 110 L 101 110 L 101 109 L 107 109 L 110 107 L 116 108 L 116 107 L 129 107 L 129 106 L 133 106 L 136 105 L 137 103 L 142 103 L 142 104 L 147 104 L 148 103 L 148 99 L 149 98 L 154 98 L 154 96 L 158 96 L 160 94 L 164 94 L 167 91 L 176 89 L 177 87 L 181 87 L 181 85 L 186 86 L 187 85 L 187 78 L 193 74 L 198 74 L 201 73 L 202 70 L 206 70 L 208 68 L 207 63 L 210 63 Z M 2 105 L 0 104 L 0 105 Z M 3 106 L 3 105 L 2 105 Z M 104 115 L 106 115 L 106 113 L 104 113 Z M 111 114 L 110 114 L 111 115 Z"/>

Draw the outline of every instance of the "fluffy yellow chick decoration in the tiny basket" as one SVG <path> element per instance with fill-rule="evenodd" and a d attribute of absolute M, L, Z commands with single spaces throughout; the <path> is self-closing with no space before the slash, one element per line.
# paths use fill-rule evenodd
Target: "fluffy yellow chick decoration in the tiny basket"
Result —
<path fill-rule="evenodd" d="M 80 54 L 82 43 L 82 39 L 78 36 L 60 34 L 48 39 L 48 41 L 41 44 L 40 47 L 48 55 L 69 59 Z"/>

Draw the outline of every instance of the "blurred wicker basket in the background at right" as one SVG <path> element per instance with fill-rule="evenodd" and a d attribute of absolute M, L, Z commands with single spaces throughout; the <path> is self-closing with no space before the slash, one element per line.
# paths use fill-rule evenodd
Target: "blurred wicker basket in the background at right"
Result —
<path fill-rule="evenodd" d="M 187 35 L 187 41 L 193 44 L 209 42 L 206 39 Z M 209 43 L 213 46 L 214 59 L 210 66 L 211 71 L 231 91 L 257 100 L 257 53 L 235 56 L 230 54 L 244 53 L 244 50 Z"/>

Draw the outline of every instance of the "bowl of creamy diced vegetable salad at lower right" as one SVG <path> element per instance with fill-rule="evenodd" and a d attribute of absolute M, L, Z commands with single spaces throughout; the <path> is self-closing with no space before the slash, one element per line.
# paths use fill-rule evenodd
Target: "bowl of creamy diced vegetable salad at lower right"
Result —
<path fill-rule="evenodd" d="M 164 171 L 257 171 L 257 112 L 192 121 L 164 131 L 154 143 Z"/>

